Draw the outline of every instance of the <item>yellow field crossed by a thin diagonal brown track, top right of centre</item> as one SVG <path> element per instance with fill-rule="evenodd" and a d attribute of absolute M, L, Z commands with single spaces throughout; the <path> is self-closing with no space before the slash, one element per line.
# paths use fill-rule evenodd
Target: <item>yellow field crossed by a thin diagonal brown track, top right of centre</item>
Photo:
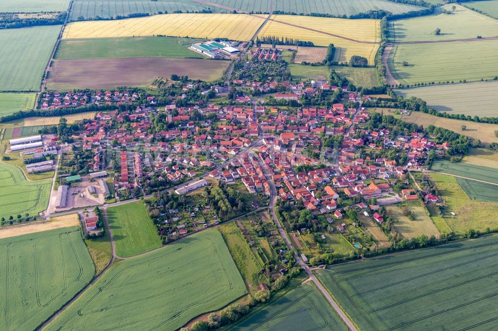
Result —
<path fill-rule="evenodd" d="M 311 41 L 315 46 L 336 47 L 335 61 L 349 61 L 353 55 L 373 65 L 380 43 L 380 21 L 328 17 L 273 15 L 258 34 Z"/>

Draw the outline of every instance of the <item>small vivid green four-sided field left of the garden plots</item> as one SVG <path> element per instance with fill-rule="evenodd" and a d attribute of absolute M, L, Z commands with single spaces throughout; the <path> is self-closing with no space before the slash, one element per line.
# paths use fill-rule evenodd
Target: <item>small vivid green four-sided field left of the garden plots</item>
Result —
<path fill-rule="evenodd" d="M 133 256 L 161 247 L 157 230 L 143 202 L 127 203 L 107 210 L 113 231 L 116 254 Z"/>

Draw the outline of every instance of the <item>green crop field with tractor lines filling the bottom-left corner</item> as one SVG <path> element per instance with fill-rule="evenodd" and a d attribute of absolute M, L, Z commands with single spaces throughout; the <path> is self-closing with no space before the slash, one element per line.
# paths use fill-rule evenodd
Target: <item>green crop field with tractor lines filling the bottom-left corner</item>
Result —
<path fill-rule="evenodd" d="M 0 239 L 0 330 L 36 330 L 94 275 L 78 227 Z"/>

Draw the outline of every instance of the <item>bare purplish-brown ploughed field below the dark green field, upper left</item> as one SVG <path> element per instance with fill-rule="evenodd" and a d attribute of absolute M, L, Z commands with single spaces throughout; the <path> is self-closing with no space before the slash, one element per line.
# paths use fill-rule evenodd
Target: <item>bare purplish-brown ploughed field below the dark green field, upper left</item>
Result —
<path fill-rule="evenodd" d="M 146 86 L 158 77 L 187 75 L 213 81 L 223 76 L 229 61 L 169 58 L 55 60 L 47 87 L 50 89 Z"/>

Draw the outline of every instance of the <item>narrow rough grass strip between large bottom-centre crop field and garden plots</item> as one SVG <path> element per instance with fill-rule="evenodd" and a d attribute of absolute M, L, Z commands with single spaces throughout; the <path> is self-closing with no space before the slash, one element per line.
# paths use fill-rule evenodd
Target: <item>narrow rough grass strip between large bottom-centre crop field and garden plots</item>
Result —
<path fill-rule="evenodd" d="M 225 224 L 218 229 L 249 290 L 255 292 L 257 290 L 256 287 L 259 285 L 259 282 L 257 282 L 257 273 L 262 269 L 262 265 L 259 265 L 257 262 L 256 257 L 249 249 L 244 235 L 234 222 Z"/>

